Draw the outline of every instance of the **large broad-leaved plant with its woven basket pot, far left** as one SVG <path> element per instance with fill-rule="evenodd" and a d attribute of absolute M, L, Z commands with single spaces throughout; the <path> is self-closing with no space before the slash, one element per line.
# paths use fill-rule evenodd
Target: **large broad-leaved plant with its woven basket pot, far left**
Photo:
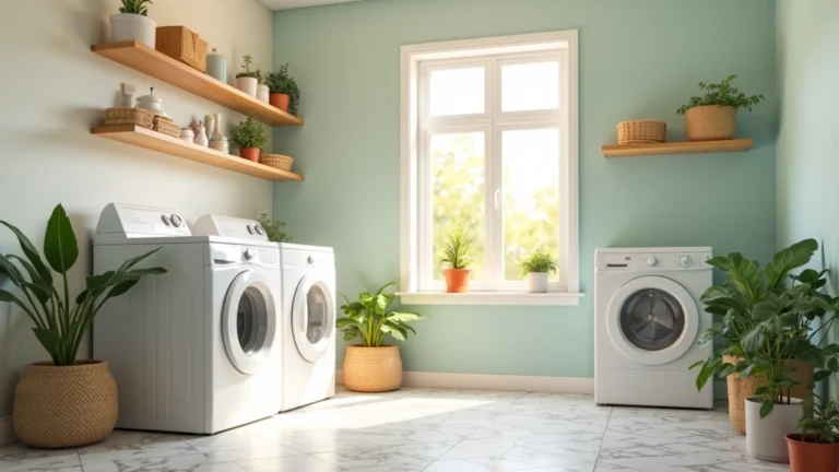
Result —
<path fill-rule="evenodd" d="M 76 353 L 93 318 L 108 299 L 125 294 L 145 275 L 166 272 L 159 267 L 134 268 L 157 249 L 113 271 L 88 276 L 85 288 L 73 297 L 68 272 L 79 258 L 79 245 L 63 206 L 57 205 L 47 223 L 46 264 L 20 229 L 4 221 L 0 224 L 14 234 L 25 256 L 0 255 L 0 274 L 16 288 L 15 293 L 0 290 L 0 302 L 16 305 L 29 317 L 35 338 L 51 359 L 24 368 L 14 390 L 14 432 L 23 442 L 42 448 L 96 442 L 117 423 L 117 385 L 106 363 L 76 361 Z M 58 288 L 54 271 L 62 279 Z"/>

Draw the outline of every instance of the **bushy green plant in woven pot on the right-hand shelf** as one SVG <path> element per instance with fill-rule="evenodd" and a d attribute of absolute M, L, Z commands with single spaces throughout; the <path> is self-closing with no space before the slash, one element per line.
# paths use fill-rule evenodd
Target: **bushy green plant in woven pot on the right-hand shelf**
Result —
<path fill-rule="evenodd" d="M 704 96 L 690 97 L 690 103 L 677 110 L 685 116 L 685 131 L 688 141 L 716 141 L 734 139 L 737 133 L 736 114 L 738 108 L 748 108 L 763 102 L 763 95 L 747 97 L 731 82 L 736 75 L 729 75 L 718 84 L 699 82 Z"/>

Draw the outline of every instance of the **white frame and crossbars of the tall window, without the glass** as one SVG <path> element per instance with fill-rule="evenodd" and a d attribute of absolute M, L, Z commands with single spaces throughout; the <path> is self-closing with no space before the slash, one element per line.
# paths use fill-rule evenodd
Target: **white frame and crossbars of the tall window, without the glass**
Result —
<path fill-rule="evenodd" d="M 513 57 L 515 56 L 515 57 Z M 531 56 L 525 58 L 522 56 Z M 501 113 L 500 96 L 495 92 L 500 84 L 500 67 L 486 67 L 494 61 L 504 62 L 532 62 L 535 58 L 558 58 L 567 71 L 565 78 L 568 82 L 567 94 L 560 96 L 560 103 L 565 106 L 559 110 L 532 110 L 521 113 Z M 471 60 L 474 59 L 474 60 Z M 485 78 L 485 104 L 484 114 L 435 117 L 425 116 L 428 109 L 427 94 L 421 91 L 421 83 L 428 80 L 432 70 L 438 68 L 451 69 L 447 63 L 456 63 L 456 67 L 469 67 L 465 62 L 484 66 Z M 493 73 L 495 72 L 495 73 Z M 402 46 L 401 48 L 401 291 L 404 303 L 427 304 L 468 304 L 468 305 L 578 305 L 582 294 L 579 293 L 579 108 L 578 108 L 578 32 L 576 30 L 539 33 L 518 36 L 503 36 L 482 39 L 457 40 L 446 43 L 432 43 L 421 45 Z M 495 116 L 495 121 L 492 117 Z M 423 117 L 424 129 L 420 128 Z M 534 120 L 530 126 L 525 121 Z M 567 126 L 563 126 L 567 122 Z M 429 143 L 432 130 L 446 130 L 452 125 L 461 130 L 475 129 L 485 132 L 485 154 L 491 158 L 493 148 L 500 145 L 500 132 L 506 129 L 542 128 L 550 123 L 560 125 L 560 133 L 565 130 L 568 135 L 563 135 L 560 148 L 563 165 L 560 175 L 560 214 L 567 217 L 560 219 L 559 248 L 560 274 L 564 279 L 553 282 L 547 294 L 523 293 L 523 284 L 496 283 L 488 291 L 480 283 L 474 284 L 474 292 L 470 294 L 442 293 L 441 283 L 427 283 L 421 280 L 421 274 L 427 274 L 433 268 L 420 267 L 420 261 L 428 263 L 427 255 L 421 258 L 421 248 L 430 248 L 425 240 L 427 234 L 420 234 L 420 216 L 430 212 L 425 208 L 428 199 L 420 198 L 420 186 L 427 178 L 427 163 L 421 160 L 423 146 Z M 451 129 L 451 128 L 448 128 Z M 500 174 L 500 173 L 495 173 Z M 489 209 L 495 198 L 493 188 L 497 182 L 486 182 L 486 208 Z M 489 215 L 487 211 L 487 215 Z M 498 220 L 498 219 L 495 219 Z M 428 224 L 429 222 L 426 222 Z M 493 217 L 487 217 L 487 224 L 500 224 Z M 426 232 L 427 233 L 427 232 Z M 495 232 L 492 232 L 495 233 Z M 497 241 L 487 240 L 486 259 L 494 258 Z M 504 282 L 504 281 L 501 281 Z M 504 292 L 498 292 L 501 290 Z"/>

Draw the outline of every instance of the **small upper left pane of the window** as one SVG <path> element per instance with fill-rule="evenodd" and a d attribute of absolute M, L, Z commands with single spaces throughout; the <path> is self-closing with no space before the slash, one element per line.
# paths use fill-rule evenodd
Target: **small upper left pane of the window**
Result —
<path fill-rule="evenodd" d="M 484 113 L 484 68 L 432 72 L 432 116 Z"/>

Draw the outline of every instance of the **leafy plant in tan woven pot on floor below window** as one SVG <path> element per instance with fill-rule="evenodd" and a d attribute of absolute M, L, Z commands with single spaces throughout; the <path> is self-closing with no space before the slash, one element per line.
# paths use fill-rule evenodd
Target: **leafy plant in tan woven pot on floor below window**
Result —
<path fill-rule="evenodd" d="M 402 357 L 398 345 L 385 344 L 390 337 L 405 341 L 409 331 L 416 331 L 409 324 L 423 317 L 415 312 L 388 311 L 394 295 L 386 293 L 389 283 L 375 294 L 358 295 L 358 302 L 341 307 L 344 317 L 335 321 L 343 331 L 344 341 L 361 340 L 361 344 L 347 344 L 344 356 L 344 386 L 353 391 L 382 392 L 397 390 L 402 386 Z"/>

